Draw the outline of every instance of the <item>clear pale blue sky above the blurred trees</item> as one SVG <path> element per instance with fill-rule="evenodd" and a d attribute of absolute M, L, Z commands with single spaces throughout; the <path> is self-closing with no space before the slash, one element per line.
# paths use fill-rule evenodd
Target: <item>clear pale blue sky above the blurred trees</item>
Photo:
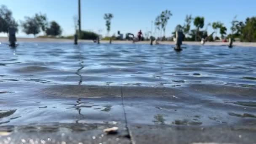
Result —
<path fill-rule="evenodd" d="M 6 5 L 13 12 L 16 21 L 24 20 L 24 16 L 35 13 L 45 13 L 49 21 L 57 21 L 62 29 L 62 35 L 74 34 L 73 16 L 77 16 L 77 0 L 0 0 L 0 5 Z M 151 30 L 151 21 L 163 10 L 170 10 L 173 16 L 168 21 L 166 36 L 177 24 L 184 24 L 187 14 L 204 16 L 205 25 L 213 21 L 221 21 L 230 32 L 233 17 L 245 21 L 246 17 L 256 16 L 256 0 L 81 0 L 82 29 L 99 32 L 106 35 L 104 13 L 113 13 L 110 34 L 132 32 L 136 34 Z M 192 27 L 193 28 L 193 27 Z M 19 28 L 18 37 L 27 36 Z M 153 30 L 154 25 L 153 25 Z M 204 27 L 205 29 L 205 27 Z M 208 31 L 212 32 L 211 27 Z M 6 34 L 0 33 L 0 36 Z"/>

